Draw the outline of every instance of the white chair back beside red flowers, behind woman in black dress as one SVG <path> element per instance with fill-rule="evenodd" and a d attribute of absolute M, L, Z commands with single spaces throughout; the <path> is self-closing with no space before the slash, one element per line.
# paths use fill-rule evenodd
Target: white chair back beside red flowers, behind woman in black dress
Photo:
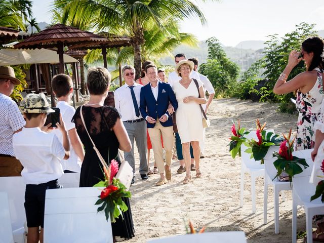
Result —
<path fill-rule="evenodd" d="M 46 191 L 44 242 L 112 243 L 110 219 L 95 205 L 98 187 Z"/>

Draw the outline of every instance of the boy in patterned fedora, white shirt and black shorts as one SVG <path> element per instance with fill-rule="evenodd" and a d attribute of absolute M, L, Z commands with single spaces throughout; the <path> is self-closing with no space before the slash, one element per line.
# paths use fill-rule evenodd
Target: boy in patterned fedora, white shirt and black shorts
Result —
<path fill-rule="evenodd" d="M 22 109 L 26 125 L 14 134 L 13 148 L 24 169 L 21 176 L 26 182 L 25 212 L 28 227 L 27 243 L 43 242 L 45 193 L 47 189 L 59 188 L 58 178 L 63 175 L 61 159 L 69 158 L 69 141 L 64 122 L 56 124 L 63 137 L 63 145 L 54 133 L 41 130 L 50 108 L 43 93 L 28 94 Z M 47 126 L 46 128 L 48 128 Z M 38 232 L 41 226 L 41 233 Z"/>

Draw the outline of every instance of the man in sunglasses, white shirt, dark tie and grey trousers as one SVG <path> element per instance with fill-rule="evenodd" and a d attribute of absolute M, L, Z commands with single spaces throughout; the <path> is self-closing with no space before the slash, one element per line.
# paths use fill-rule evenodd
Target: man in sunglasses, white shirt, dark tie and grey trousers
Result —
<path fill-rule="evenodd" d="M 146 123 L 140 111 L 140 84 L 135 82 L 135 68 L 131 65 L 125 65 L 122 70 L 125 79 L 125 85 L 121 86 L 115 91 L 115 108 L 118 110 L 121 120 L 124 123 L 128 136 L 132 143 L 132 150 L 124 152 L 125 160 L 133 168 L 135 177 L 135 157 L 134 157 L 134 139 L 140 155 L 139 173 L 142 180 L 148 179 L 148 165 L 146 159 L 147 151 L 147 137 L 146 137 Z M 135 182 L 134 178 L 132 184 Z"/>

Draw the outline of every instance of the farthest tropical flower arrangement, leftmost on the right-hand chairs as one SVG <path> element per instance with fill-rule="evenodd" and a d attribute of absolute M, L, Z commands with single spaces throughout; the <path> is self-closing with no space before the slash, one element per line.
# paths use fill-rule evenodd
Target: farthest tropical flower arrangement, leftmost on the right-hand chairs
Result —
<path fill-rule="evenodd" d="M 232 121 L 233 125 L 231 127 L 232 135 L 229 139 L 231 140 L 229 142 L 229 152 L 232 155 L 232 158 L 235 158 L 235 156 L 238 154 L 238 156 L 241 156 L 241 144 L 246 141 L 246 138 L 244 135 L 247 135 L 250 133 L 250 131 L 246 131 L 246 128 L 240 128 L 239 126 L 239 120 L 237 122 L 237 128 L 235 127 L 235 123 Z M 227 146 L 228 146 L 227 145 Z"/>

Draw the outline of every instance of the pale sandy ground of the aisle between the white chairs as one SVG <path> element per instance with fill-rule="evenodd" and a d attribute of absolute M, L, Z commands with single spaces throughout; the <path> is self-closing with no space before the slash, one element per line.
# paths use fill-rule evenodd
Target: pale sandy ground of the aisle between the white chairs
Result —
<path fill-rule="evenodd" d="M 279 197 L 279 234 L 274 233 L 272 187 L 268 194 L 268 224 L 263 224 L 263 178 L 256 181 L 256 214 L 252 214 L 251 181 L 245 180 L 244 207 L 239 207 L 240 159 L 229 154 L 231 120 L 241 120 L 241 126 L 255 128 L 255 119 L 267 121 L 267 128 L 278 133 L 296 130 L 297 114 L 276 111 L 277 104 L 253 103 L 237 99 L 214 99 L 209 109 L 211 127 L 207 129 L 206 158 L 200 160 L 203 177 L 182 184 L 184 174 L 177 174 L 178 161 L 173 161 L 172 180 L 155 186 L 159 176 L 142 181 L 138 174 L 131 187 L 132 213 L 136 236 L 128 242 L 146 242 L 148 239 L 185 234 L 184 219 L 190 219 L 196 228 L 206 231 L 242 230 L 248 242 L 280 242 L 292 240 L 291 191 L 286 201 Z M 136 151 L 136 149 L 135 149 Z M 138 154 L 137 161 L 138 161 Z M 151 157 L 153 153 L 151 151 Z M 153 158 L 150 166 L 153 168 Z M 297 228 L 305 230 L 305 215 L 298 212 Z M 302 242 L 300 239 L 298 242 Z"/>

